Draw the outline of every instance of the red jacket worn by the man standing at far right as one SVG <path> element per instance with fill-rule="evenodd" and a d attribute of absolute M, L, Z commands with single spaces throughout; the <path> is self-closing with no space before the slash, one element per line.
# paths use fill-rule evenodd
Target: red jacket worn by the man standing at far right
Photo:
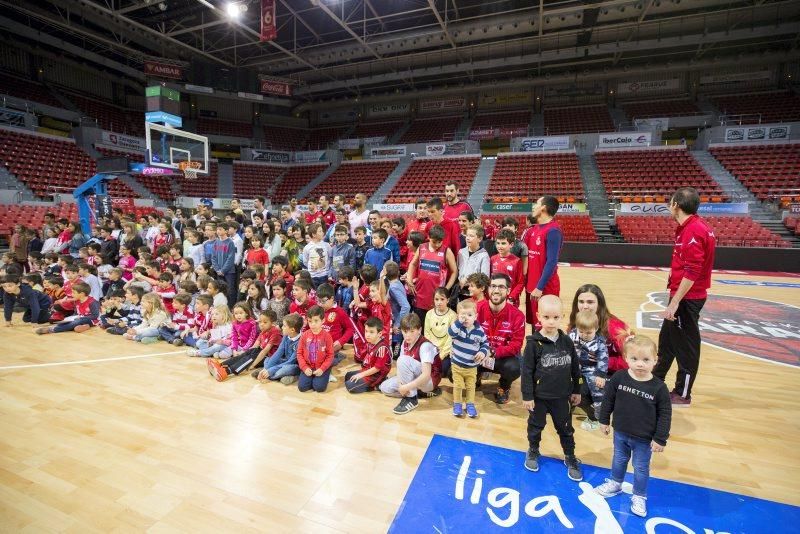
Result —
<path fill-rule="evenodd" d="M 678 290 L 684 278 L 694 282 L 694 285 L 683 298 L 704 299 L 708 296 L 716 246 L 714 230 L 697 215 L 689 216 L 683 224 L 678 225 L 675 229 L 675 247 L 672 249 L 672 265 L 667 282 L 670 297 Z"/>

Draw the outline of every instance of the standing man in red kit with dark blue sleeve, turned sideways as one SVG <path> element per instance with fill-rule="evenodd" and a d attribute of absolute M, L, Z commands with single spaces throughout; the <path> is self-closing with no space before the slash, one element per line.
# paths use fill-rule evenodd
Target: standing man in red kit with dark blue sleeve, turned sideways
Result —
<path fill-rule="evenodd" d="M 532 215 L 536 224 L 525 234 L 528 247 L 528 279 L 525 284 L 525 316 L 534 330 L 539 330 L 536 318 L 537 303 L 542 295 L 558 296 L 561 282 L 558 279 L 558 255 L 564 236 L 561 226 L 553 220 L 558 211 L 558 199 L 543 196 L 533 205 Z"/>

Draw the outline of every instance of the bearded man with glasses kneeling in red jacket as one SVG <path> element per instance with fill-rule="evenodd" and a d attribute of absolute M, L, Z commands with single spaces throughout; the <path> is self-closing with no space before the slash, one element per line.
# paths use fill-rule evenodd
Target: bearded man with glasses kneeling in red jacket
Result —
<path fill-rule="evenodd" d="M 490 371 L 500 374 L 494 394 L 497 404 L 508 402 L 511 384 L 519 378 L 522 342 L 525 341 L 525 315 L 508 302 L 511 280 L 504 273 L 494 273 L 489 280 L 489 300 L 478 303 L 477 323 L 489 338 L 494 369 L 481 367 L 478 373 Z M 476 360 L 481 363 L 483 358 Z"/>

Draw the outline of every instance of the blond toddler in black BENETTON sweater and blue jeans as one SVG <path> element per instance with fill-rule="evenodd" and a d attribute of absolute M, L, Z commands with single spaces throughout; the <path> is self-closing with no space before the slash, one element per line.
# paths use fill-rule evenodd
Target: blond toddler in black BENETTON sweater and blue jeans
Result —
<path fill-rule="evenodd" d="M 662 452 L 667 445 L 672 404 L 667 386 L 653 376 L 658 359 L 656 344 L 648 337 L 634 336 L 625 342 L 624 352 L 628 369 L 614 373 L 609 380 L 599 416 L 600 429 L 608 435 L 611 414 L 614 414 L 611 478 L 595 491 L 603 497 L 620 493 L 628 461 L 633 456 L 631 512 L 645 517 L 650 459 L 652 453 Z"/>

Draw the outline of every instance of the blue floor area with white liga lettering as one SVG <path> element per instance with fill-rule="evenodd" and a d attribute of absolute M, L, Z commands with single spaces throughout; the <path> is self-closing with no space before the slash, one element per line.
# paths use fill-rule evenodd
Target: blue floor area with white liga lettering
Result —
<path fill-rule="evenodd" d="M 584 465 L 576 483 L 560 460 L 542 458 L 537 473 L 524 460 L 520 451 L 435 435 L 389 531 L 800 532 L 800 507 L 652 477 L 640 518 L 629 511 L 630 484 L 610 499 L 594 493 L 608 467 Z"/>

